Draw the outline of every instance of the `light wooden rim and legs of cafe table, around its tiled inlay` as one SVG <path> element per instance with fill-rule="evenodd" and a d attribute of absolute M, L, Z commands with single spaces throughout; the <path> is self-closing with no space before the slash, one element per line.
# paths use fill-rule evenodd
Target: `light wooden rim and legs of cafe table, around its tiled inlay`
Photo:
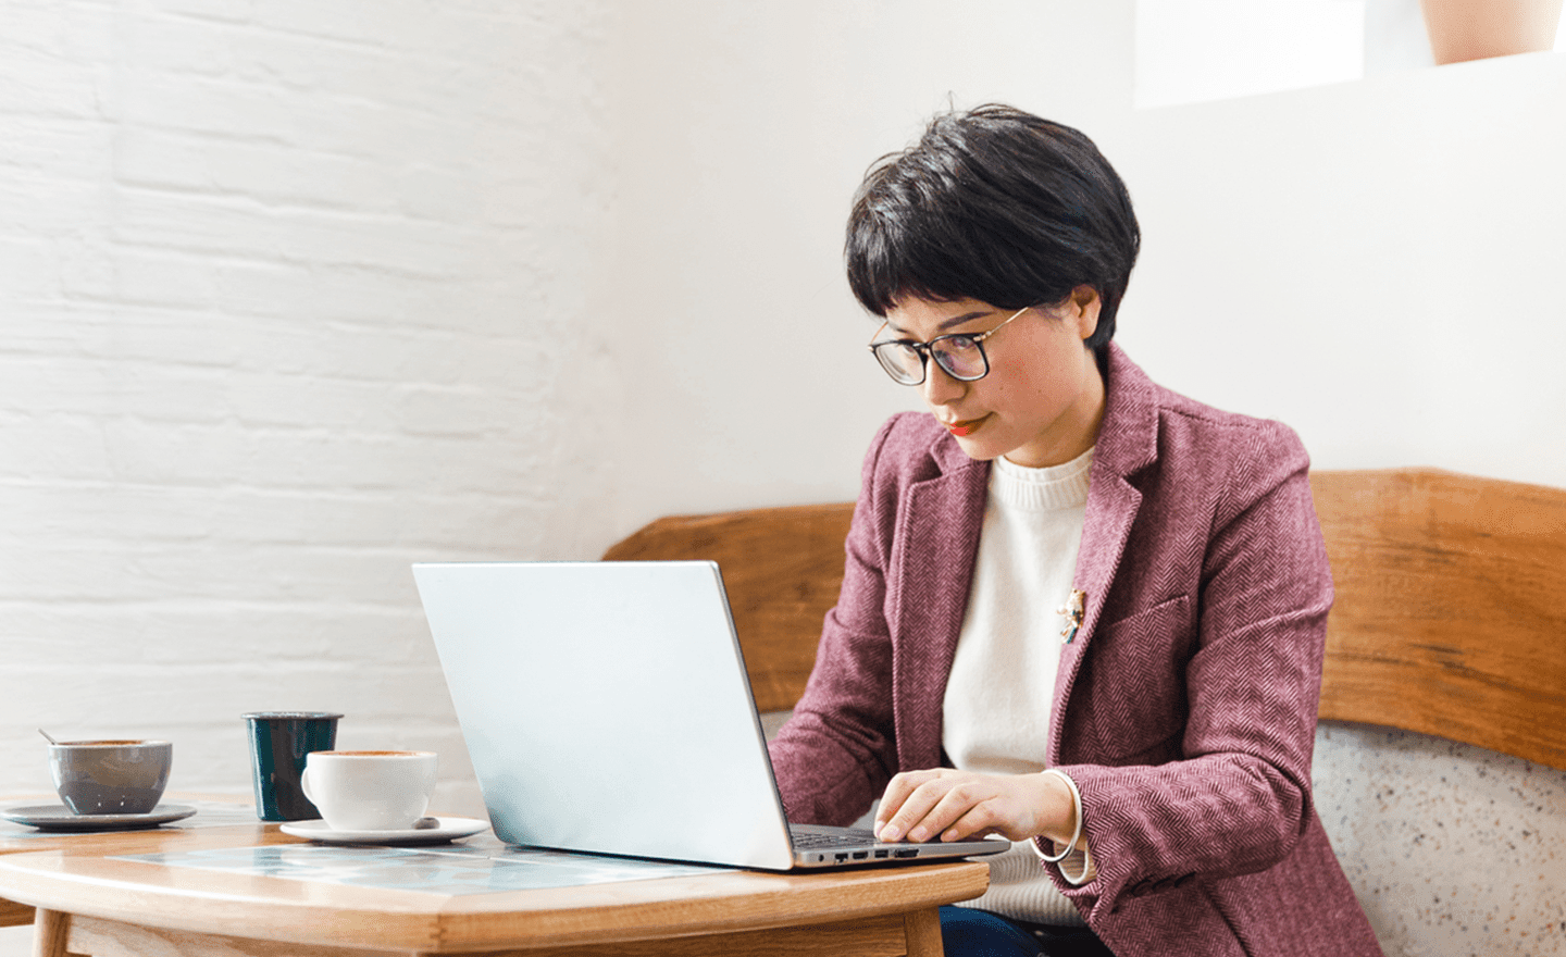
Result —
<path fill-rule="evenodd" d="M 293 841 L 276 825 L 77 838 L 0 857 L 0 897 L 38 908 L 36 957 L 92 954 L 941 952 L 938 905 L 988 885 L 974 861 L 816 874 L 716 871 L 478 894 L 199 871 L 111 855 Z M 498 844 L 498 843 L 496 843 Z"/>

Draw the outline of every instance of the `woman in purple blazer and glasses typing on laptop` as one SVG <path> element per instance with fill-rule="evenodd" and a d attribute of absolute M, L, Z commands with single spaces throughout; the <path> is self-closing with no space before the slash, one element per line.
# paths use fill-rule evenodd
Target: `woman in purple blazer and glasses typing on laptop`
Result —
<path fill-rule="evenodd" d="M 871 445 L 843 594 L 772 744 L 791 819 L 999 833 L 949 954 L 1380 954 L 1311 804 L 1331 578 L 1286 426 L 1110 343 L 1140 233 L 1084 135 L 938 116 L 847 230 L 930 413 Z"/>

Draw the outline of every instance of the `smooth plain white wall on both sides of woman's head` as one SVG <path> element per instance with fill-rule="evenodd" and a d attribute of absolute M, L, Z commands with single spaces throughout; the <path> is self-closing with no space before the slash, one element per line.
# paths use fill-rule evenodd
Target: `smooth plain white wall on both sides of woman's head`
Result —
<path fill-rule="evenodd" d="M 985 100 L 1081 125 L 1123 172 L 1145 252 L 1120 338 L 1156 377 L 1284 418 L 1319 467 L 1566 486 L 1566 61 L 1138 111 L 1132 8 L 713 0 L 620 20 L 642 38 L 622 36 L 634 163 L 598 310 L 633 320 L 620 531 L 852 498 L 874 426 L 918 399 L 863 354 L 849 197 L 932 110 Z"/>

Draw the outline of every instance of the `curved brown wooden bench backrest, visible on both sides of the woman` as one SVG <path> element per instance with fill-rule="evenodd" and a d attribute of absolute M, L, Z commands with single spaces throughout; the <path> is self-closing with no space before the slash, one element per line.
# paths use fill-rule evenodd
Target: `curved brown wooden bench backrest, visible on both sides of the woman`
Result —
<path fill-rule="evenodd" d="M 1566 769 L 1566 492 L 1438 471 L 1311 476 L 1337 589 L 1322 717 Z M 761 711 L 794 706 L 850 503 L 659 518 L 604 559 L 713 559 Z"/>

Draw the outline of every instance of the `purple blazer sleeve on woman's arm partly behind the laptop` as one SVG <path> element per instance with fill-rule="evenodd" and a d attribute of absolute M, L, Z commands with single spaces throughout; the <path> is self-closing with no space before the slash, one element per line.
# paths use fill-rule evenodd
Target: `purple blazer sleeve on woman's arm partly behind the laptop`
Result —
<path fill-rule="evenodd" d="M 827 612 L 816 666 L 792 717 L 769 744 L 791 821 L 846 825 L 882 796 L 896 767 L 886 565 L 896 490 L 883 460 L 897 417 L 864 457 L 844 544 L 843 590 Z"/>

